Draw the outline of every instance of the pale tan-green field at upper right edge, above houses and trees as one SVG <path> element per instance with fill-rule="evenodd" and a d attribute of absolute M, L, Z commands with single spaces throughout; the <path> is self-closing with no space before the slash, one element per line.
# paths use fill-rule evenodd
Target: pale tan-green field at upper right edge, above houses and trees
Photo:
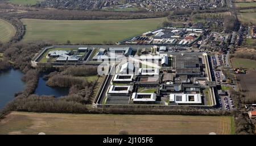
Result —
<path fill-rule="evenodd" d="M 237 17 L 243 24 L 256 23 L 256 12 L 238 12 Z"/>

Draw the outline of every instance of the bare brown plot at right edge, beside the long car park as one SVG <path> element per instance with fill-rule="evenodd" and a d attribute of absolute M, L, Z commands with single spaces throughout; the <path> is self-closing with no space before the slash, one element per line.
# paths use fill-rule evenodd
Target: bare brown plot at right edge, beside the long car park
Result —
<path fill-rule="evenodd" d="M 256 98 L 256 70 L 246 70 L 246 74 L 237 74 L 240 88 L 245 92 L 246 97 Z"/>

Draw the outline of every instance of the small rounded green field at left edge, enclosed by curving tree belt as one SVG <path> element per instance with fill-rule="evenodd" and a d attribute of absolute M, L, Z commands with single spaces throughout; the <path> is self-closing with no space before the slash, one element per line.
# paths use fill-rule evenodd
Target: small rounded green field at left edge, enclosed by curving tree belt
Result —
<path fill-rule="evenodd" d="M 0 41 L 5 43 L 15 35 L 15 28 L 9 22 L 0 19 Z"/>

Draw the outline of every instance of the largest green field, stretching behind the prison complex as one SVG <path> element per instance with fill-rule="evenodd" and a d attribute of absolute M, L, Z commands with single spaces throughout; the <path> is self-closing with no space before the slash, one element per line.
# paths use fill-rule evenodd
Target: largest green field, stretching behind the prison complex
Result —
<path fill-rule="evenodd" d="M 115 43 L 161 26 L 166 18 L 129 20 L 42 20 L 22 19 L 23 41 L 52 40 L 66 43 Z"/>

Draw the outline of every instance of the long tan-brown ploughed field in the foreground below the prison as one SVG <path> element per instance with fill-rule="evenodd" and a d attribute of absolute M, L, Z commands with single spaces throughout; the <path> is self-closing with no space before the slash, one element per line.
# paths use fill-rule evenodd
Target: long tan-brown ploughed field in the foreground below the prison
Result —
<path fill-rule="evenodd" d="M 11 112 L 0 121 L 0 134 L 233 134 L 233 126 L 232 116 Z"/>

